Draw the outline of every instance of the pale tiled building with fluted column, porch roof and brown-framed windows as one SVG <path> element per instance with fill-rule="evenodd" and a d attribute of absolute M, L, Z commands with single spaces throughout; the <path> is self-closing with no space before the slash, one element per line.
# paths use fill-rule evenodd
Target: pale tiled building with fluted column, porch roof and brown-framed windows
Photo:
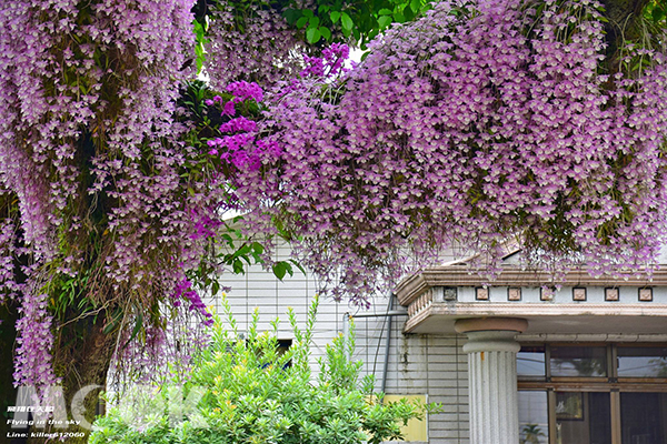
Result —
<path fill-rule="evenodd" d="M 288 251 L 281 251 L 287 258 Z M 418 396 L 442 411 L 409 441 L 438 444 L 667 444 L 667 271 L 651 280 L 550 275 L 508 256 L 490 286 L 464 262 L 402 281 L 369 311 L 320 302 L 312 359 L 354 320 L 356 352 L 389 398 Z M 311 276 L 280 282 L 259 268 L 230 276 L 242 329 L 255 307 L 269 322 L 306 320 Z"/>

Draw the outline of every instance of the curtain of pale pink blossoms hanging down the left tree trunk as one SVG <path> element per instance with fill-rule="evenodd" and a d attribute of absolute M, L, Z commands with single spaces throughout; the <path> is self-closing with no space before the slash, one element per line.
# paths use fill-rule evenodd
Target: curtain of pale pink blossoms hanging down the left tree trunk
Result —
<path fill-rule="evenodd" d="M 108 292 L 168 300 L 183 271 L 199 265 L 207 240 L 189 235 L 198 229 L 189 210 L 217 216 L 222 199 L 207 180 L 186 186 L 181 178 L 200 157 L 179 140 L 188 128 L 176 109 L 176 79 L 192 73 L 183 69 L 195 44 L 191 7 L 17 0 L 0 8 L 0 189 L 20 211 L 18 226 L 0 224 L 0 286 L 21 304 L 17 384 L 54 379 L 56 325 L 40 283 L 86 273 L 92 258 L 104 292 L 90 300 Z M 13 282 L 14 244 L 31 263 L 22 286 Z"/>

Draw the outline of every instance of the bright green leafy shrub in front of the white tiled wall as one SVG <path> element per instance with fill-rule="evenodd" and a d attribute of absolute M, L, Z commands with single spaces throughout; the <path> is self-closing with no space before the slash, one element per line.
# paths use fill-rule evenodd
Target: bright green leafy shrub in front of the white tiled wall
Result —
<path fill-rule="evenodd" d="M 360 379 L 361 363 L 348 359 L 354 334 L 349 340 L 338 336 L 327 346 L 315 383 L 309 350 L 317 300 L 305 330 L 288 312 L 295 340 L 283 353 L 278 347 L 278 321 L 272 322 L 272 332 L 261 333 L 256 311 L 243 335 L 226 301 L 225 307 L 227 325 L 216 319 L 211 344 L 197 359 L 182 392 L 200 391 L 197 412 L 182 421 L 167 407 L 180 404 L 182 393 L 161 387 L 137 406 L 141 424 L 132 424 L 137 416 L 127 410 L 111 408 L 97 421 L 92 444 L 380 443 L 399 440 L 400 425 L 436 408 L 406 400 L 379 402 L 382 394 L 372 393 L 372 379 Z"/>

